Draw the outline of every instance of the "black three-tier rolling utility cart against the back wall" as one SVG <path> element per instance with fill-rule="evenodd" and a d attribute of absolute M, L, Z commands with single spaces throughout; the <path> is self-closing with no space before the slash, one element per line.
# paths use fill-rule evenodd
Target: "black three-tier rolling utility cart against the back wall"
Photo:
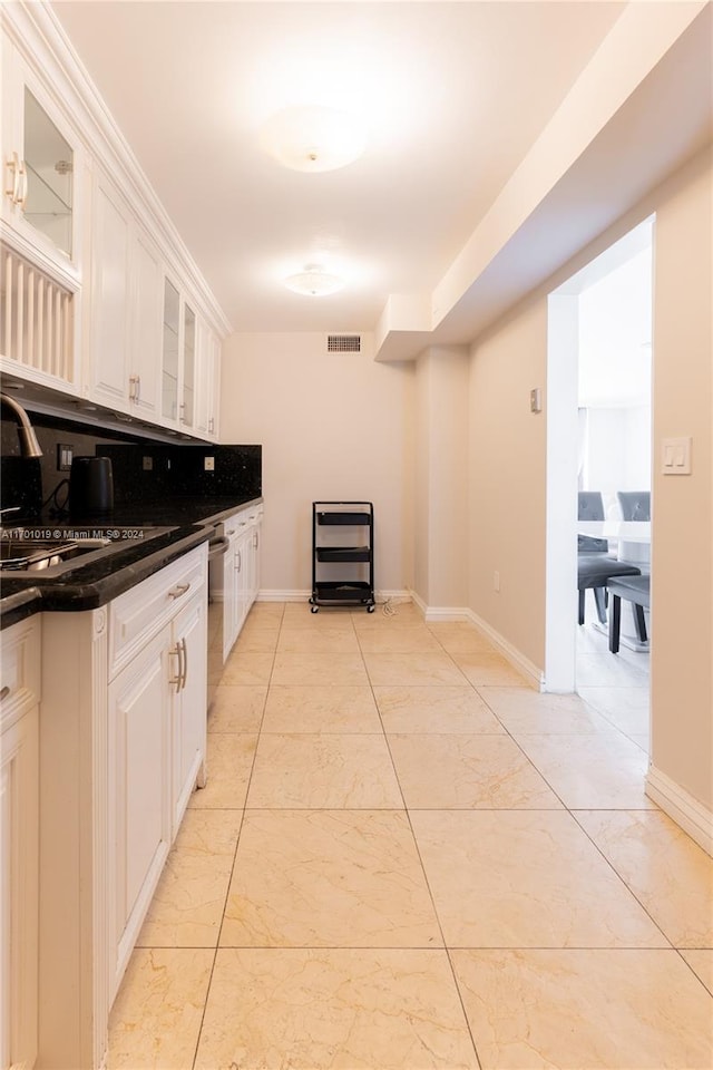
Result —
<path fill-rule="evenodd" d="M 312 612 L 321 605 L 374 601 L 374 507 L 371 502 L 312 503 Z"/>

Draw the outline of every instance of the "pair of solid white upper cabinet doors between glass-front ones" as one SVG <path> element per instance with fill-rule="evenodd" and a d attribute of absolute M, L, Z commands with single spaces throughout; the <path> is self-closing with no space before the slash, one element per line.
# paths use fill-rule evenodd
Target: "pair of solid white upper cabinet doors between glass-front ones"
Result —
<path fill-rule="evenodd" d="M 101 173 L 94 183 L 87 296 L 89 397 L 150 419 L 158 407 L 163 264 L 128 203 Z"/>

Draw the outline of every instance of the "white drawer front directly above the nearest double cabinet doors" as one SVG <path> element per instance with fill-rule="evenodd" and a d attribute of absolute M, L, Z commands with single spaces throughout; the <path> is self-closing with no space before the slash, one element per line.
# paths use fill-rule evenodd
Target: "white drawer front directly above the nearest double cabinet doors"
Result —
<path fill-rule="evenodd" d="M 198 591 L 206 591 L 207 546 L 184 557 L 119 595 L 109 606 L 109 680 Z M 206 594 L 207 597 L 207 594 Z"/>

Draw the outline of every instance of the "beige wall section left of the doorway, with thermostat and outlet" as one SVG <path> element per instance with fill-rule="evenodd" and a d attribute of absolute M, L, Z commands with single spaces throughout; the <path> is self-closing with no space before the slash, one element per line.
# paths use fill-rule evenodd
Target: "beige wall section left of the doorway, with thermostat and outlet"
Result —
<path fill-rule="evenodd" d="M 471 350 L 469 606 L 538 668 L 545 661 L 547 302 L 520 304 Z M 496 592 L 494 574 L 500 575 Z"/>

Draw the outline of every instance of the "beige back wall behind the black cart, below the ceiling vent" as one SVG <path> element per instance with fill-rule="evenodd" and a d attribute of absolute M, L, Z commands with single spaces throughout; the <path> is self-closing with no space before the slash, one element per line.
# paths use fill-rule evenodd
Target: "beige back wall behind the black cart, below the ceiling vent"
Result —
<path fill-rule="evenodd" d="M 312 502 L 374 503 L 375 584 L 412 576 L 414 370 L 328 353 L 326 335 L 234 334 L 223 348 L 221 438 L 263 447 L 263 591 L 312 586 Z"/>

